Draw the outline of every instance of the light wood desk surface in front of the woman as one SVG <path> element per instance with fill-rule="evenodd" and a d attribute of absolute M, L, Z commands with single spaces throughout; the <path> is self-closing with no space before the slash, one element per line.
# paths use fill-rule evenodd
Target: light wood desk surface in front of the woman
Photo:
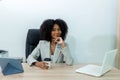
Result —
<path fill-rule="evenodd" d="M 120 80 L 120 70 L 112 69 L 104 76 L 98 78 L 76 73 L 75 70 L 82 65 L 67 66 L 56 64 L 52 69 L 42 70 L 38 67 L 29 67 L 23 63 L 24 73 L 3 76 L 0 73 L 0 80 Z"/>

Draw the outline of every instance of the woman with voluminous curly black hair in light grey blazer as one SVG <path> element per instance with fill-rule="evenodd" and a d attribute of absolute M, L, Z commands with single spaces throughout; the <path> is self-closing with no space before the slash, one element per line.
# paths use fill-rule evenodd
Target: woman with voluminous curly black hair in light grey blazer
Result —
<path fill-rule="evenodd" d="M 72 65 L 73 60 L 67 44 L 64 42 L 68 31 L 67 24 L 61 19 L 45 20 L 40 27 L 40 41 L 37 47 L 28 56 L 29 65 L 47 69 L 45 58 L 51 58 L 53 63 Z M 41 56 L 42 61 L 37 61 Z"/>

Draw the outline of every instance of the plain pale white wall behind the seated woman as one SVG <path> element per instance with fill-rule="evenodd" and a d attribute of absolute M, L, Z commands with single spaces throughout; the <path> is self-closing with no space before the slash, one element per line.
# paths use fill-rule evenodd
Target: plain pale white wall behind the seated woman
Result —
<path fill-rule="evenodd" d="M 75 63 L 100 63 L 116 46 L 116 8 L 117 0 L 0 0 L 0 49 L 24 57 L 27 30 L 61 18 Z"/>

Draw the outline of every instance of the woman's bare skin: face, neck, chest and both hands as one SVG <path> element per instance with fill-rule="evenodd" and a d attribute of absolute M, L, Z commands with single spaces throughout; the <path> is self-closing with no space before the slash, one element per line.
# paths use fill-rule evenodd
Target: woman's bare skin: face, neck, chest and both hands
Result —
<path fill-rule="evenodd" d="M 56 44 L 60 44 L 63 48 L 65 47 L 65 43 L 63 41 L 63 39 L 60 37 L 62 34 L 62 31 L 60 29 L 60 27 L 55 24 L 53 26 L 53 30 L 51 31 L 51 37 L 52 40 L 50 42 L 50 51 L 51 51 L 51 55 L 54 55 L 54 51 L 55 51 L 55 47 Z M 35 62 L 35 66 L 41 68 L 41 69 L 48 69 L 48 63 L 41 61 L 41 62 Z"/>

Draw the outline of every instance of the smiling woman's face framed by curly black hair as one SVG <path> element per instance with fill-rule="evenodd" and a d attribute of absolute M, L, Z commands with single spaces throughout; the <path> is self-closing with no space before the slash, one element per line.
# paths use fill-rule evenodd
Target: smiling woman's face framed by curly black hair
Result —
<path fill-rule="evenodd" d="M 60 27 L 57 24 L 54 24 L 52 32 L 51 32 L 52 39 L 56 39 L 57 37 L 60 37 L 61 34 L 62 34 L 62 31 Z"/>

